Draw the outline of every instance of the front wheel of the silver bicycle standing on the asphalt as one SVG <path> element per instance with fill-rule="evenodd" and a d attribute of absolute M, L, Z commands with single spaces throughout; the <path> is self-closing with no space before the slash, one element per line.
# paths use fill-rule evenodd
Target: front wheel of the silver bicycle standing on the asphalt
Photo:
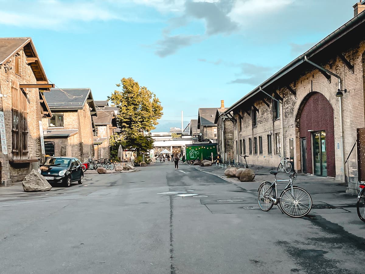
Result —
<path fill-rule="evenodd" d="M 284 189 L 280 194 L 280 206 L 289 217 L 300 218 L 306 216 L 312 208 L 312 198 L 301 187 L 293 186 Z"/>

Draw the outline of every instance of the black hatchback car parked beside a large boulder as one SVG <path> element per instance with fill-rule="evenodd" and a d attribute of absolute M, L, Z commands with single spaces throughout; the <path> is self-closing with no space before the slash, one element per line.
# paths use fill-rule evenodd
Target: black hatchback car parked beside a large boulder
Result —
<path fill-rule="evenodd" d="M 81 161 L 73 157 L 51 157 L 38 172 L 51 183 L 63 183 L 69 187 L 71 182 L 82 184 L 84 172 L 82 172 Z"/>

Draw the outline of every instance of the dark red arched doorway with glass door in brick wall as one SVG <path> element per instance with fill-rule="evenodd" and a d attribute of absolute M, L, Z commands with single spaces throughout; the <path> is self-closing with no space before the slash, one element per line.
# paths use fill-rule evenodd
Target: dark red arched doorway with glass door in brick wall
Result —
<path fill-rule="evenodd" d="M 330 102 L 319 92 L 311 92 L 301 103 L 298 120 L 302 172 L 334 177 L 334 123 Z"/>

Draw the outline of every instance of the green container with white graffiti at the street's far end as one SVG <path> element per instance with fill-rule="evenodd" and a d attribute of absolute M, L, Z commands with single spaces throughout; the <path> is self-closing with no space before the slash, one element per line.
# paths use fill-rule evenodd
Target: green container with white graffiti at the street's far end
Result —
<path fill-rule="evenodd" d="M 217 159 L 217 144 L 216 143 L 194 143 L 186 146 L 185 159 L 191 160 L 213 160 Z"/>

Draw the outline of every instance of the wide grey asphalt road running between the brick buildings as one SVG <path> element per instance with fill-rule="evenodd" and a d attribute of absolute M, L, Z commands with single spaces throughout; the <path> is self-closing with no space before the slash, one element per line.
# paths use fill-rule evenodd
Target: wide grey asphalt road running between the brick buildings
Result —
<path fill-rule="evenodd" d="M 364 235 L 262 212 L 256 191 L 166 162 L 2 197 L 0 273 L 365 272 Z"/>

